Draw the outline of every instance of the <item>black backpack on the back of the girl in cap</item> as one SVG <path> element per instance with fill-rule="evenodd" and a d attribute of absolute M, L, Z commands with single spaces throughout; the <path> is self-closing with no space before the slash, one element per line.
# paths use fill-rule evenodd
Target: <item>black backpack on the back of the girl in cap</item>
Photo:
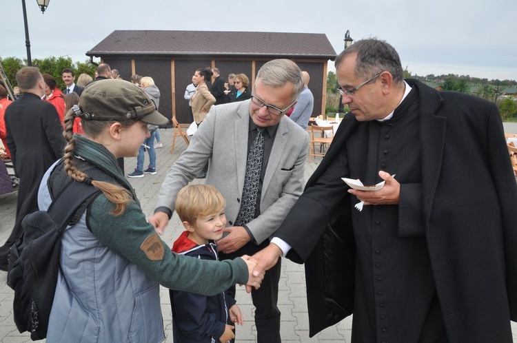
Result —
<path fill-rule="evenodd" d="M 47 336 L 60 269 L 61 235 L 100 192 L 73 180 L 54 198 L 48 211 L 23 218 L 23 234 L 9 253 L 7 284 L 14 289 L 14 323 L 20 333 L 29 331 L 31 340 Z"/>

